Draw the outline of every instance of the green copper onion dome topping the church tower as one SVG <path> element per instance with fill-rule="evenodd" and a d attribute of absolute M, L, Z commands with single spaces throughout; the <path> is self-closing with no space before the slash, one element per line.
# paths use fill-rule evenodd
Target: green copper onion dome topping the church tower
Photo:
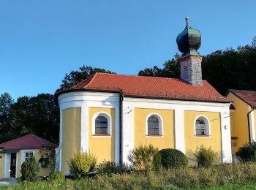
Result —
<path fill-rule="evenodd" d="M 185 19 L 187 22 L 188 17 Z M 184 31 L 178 34 L 176 42 L 178 50 L 183 53 L 182 58 L 187 56 L 200 56 L 199 53 L 197 53 L 197 50 L 201 45 L 201 33 L 199 30 L 189 26 L 188 23 L 184 28 Z"/>

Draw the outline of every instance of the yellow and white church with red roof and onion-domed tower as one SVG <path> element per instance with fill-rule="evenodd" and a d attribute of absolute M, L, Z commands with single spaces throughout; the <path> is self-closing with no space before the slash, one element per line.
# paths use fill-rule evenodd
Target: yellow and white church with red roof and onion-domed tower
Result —
<path fill-rule="evenodd" d="M 96 73 L 56 93 L 59 171 L 69 175 L 67 161 L 78 151 L 129 164 L 129 153 L 149 144 L 186 155 L 211 146 L 219 163 L 232 161 L 230 100 L 202 80 L 200 31 L 187 23 L 176 42 L 180 79 Z"/>

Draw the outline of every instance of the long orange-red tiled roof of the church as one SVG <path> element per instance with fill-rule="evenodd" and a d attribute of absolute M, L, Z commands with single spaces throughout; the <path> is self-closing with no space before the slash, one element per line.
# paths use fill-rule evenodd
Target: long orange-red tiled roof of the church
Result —
<path fill-rule="evenodd" d="M 56 96 L 70 91 L 119 92 L 124 96 L 154 99 L 176 99 L 200 102 L 230 102 L 219 94 L 206 80 L 203 86 L 192 86 L 182 80 L 165 77 L 142 77 L 96 73 L 86 80 L 56 93 Z"/>

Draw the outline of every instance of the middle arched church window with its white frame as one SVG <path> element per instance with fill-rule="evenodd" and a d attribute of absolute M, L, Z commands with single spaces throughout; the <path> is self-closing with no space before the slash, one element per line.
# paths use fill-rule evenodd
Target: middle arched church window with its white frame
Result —
<path fill-rule="evenodd" d="M 162 134 L 162 118 L 160 117 L 160 115 L 158 115 L 157 113 L 148 115 L 146 119 L 146 135 L 162 136 Z"/>

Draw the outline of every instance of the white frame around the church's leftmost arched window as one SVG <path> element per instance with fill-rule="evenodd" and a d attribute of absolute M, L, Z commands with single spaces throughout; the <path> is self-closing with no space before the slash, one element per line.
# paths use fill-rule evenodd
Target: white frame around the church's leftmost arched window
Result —
<path fill-rule="evenodd" d="M 108 135 L 95 135 L 95 120 L 98 116 L 103 116 L 107 118 L 108 121 Z M 92 122 L 91 122 L 91 135 L 93 137 L 111 137 L 112 136 L 112 118 L 109 113 L 106 112 L 97 112 L 92 116 Z"/>

